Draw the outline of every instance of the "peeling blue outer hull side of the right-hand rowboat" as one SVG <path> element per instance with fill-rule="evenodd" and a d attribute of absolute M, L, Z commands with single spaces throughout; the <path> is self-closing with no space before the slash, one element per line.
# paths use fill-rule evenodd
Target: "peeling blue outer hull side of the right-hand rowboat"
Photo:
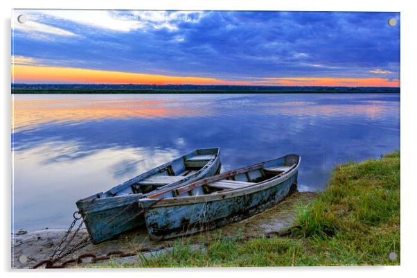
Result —
<path fill-rule="evenodd" d="M 188 203 L 184 201 L 178 205 L 163 205 L 163 200 L 157 205 L 151 204 L 144 211 L 150 238 L 161 241 L 186 236 L 258 214 L 281 202 L 293 186 L 296 186 L 297 175 L 298 169 L 285 179 L 266 182 L 258 190 L 236 192 L 229 196 L 218 194 L 218 198 L 214 200 L 202 198 L 195 202 L 193 198 L 187 198 Z"/>

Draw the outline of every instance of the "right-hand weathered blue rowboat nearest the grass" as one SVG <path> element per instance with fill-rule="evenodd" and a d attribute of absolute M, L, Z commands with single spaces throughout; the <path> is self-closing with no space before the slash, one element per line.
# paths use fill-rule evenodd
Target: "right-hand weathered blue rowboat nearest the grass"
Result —
<path fill-rule="evenodd" d="M 141 198 L 149 236 L 186 236 L 258 214 L 296 186 L 300 162 L 285 155 Z"/>

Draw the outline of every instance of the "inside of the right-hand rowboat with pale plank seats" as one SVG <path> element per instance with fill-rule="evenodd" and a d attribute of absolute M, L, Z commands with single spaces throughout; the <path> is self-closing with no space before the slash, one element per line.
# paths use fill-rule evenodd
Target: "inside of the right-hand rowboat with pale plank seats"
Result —
<path fill-rule="evenodd" d="M 156 194 L 148 198 L 173 198 L 186 196 L 200 196 L 220 193 L 253 186 L 259 182 L 284 175 L 299 163 L 298 155 L 287 155 L 278 159 L 269 160 L 261 164 L 242 168 L 238 171 L 222 173 L 215 177 L 181 186 L 177 189 Z"/>

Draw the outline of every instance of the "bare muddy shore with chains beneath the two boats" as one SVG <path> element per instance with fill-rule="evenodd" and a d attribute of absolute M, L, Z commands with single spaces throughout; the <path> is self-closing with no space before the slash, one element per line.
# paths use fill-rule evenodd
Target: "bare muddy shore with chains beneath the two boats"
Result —
<path fill-rule="evenodd" d="M 214 233 L 221 233 L 222 236 L 242 236 L 244 238 L 282 236 L 289 227 L 294 225 L 296 207 L 299 204 L 310 202 L 315 195 L 315 193 L 311 192 L 293 192 L 278 205 L 263 211 L 261 214 L 214 231 L 188 236 L 183 238 L 183 240 L 193 243 L 193 247 L 201 250 L 204 248 L 202 243 L 208 241 Z M 13 234 L 12 268 L 32 268 L 39 261 L 48 259 L 65 232 L 66 230 L 64 229 L 45 229 L 28 232 L 27 234 Z M 88 238 L 87 230 L 81 229 L 75 236 L 73 245 L 80 243 L 85 238 Z M 117 255 L 114 255 L 112 260 L 120 262 L 132 261 L 138 259 L 136 255 L 138 253 L 141 253 L 141 257 L 152 257 L 163 252 L 170 252 L 174 242 L 175 239 L 159 242 L 150 241 L 146 228 L 141 227 L 132 232 L 121 234 L 112 241 L 106 241 L 97 245 L 89 244 L 74 253 L 72 259 L 76 259 L 81 254 L 86 253 L 94 254 L 96 257 L 103 257 L 112 252 L 128 252 L 134 253 L 134 255 L 124 258 L 118 258 Z M 66 257 L 64 260 L 68 259 L 71 259 L 71 257 Z M 91 258 L 85 258 L 82 259 L 81 263 L 69 263 L 66 267 L 91 267 L 103 263 L 106 263 L 106 261 L 100 260 L 93 263 Z"/>

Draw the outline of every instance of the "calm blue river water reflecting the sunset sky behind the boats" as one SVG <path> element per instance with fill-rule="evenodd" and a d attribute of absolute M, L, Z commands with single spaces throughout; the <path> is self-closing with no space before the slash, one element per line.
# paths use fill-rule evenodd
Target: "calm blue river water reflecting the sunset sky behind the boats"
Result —
<path fill-rule="evenodd" d="M 301 155 L 300 191 L 400 148 L 399 94 L 14 95 L 13 229 L 66 228 L 76 200 L 195 148 L 222 171 Z"/>

